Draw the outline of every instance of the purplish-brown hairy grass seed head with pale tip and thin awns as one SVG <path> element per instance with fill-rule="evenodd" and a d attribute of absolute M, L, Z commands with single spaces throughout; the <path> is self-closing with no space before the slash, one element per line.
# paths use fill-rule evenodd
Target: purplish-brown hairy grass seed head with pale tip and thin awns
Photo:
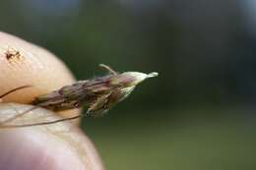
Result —
<path fill-rule="evenodd" d="M 63 111 L 86 106 L 86 116 L 100 117 L 106 113 L 112 106 L 126 98 L 136 87 L 143 81 L 157 77 L 159 74 L 153 72 L 150 74 L 140 72 L 124 72 L 117 73 L 106 65 L 99 65 L 106 69 L 109 74 L 102 77 L 97 77 L 91 80 L 79 81 L 73 85 L 66 85 L 57 90 L 35 97 L 32 101 L 34 105 L 31 109 L 19 114 L 14 118 L 10 118 L 4 123 L 8 123 L 17 117 L 21 117 L 26 113 L 38 107 L 44 107 L 52 111 Z M 6 93 L 0 95 L 1 98 L 14 92 L 18 89 L 30 87 L 31 85 L 24 85 L 14 88 Z M 29 123 L 25 125 L 5 125 L 0 128 L 16 128 L 16 127 L 30 127 L 38 125 L 48 125 L 62 121 L 68 121 L 80 118 L 84 115 L 76 115 L 69 118 L 62 118 L 51 122 Z"/>

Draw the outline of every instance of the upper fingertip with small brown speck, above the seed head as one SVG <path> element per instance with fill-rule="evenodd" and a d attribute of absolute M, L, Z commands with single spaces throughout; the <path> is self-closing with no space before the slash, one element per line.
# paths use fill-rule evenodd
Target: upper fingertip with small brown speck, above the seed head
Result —
<path fill-rule="evenodd" d="M 65 64 L 49 51 L 0 31 L 0 95 L 23 85 L 2 102 L 31 103 L 34 97 L 71 85 L 75 79 Z M 1 100 L 0 100 L 1 102 Z M 60 115 L 71 116 L 79 110 Z"/>

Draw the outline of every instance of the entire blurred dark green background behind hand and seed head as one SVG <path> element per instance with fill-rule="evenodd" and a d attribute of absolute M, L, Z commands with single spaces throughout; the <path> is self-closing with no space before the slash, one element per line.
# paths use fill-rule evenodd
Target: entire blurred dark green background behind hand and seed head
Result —
<path fill-rule="evenodd" d="M 256 169 L 256 1 L 1 0 L 0 30 L 78 80 L 160 73 L 82 127 L 111 170 Z"/>

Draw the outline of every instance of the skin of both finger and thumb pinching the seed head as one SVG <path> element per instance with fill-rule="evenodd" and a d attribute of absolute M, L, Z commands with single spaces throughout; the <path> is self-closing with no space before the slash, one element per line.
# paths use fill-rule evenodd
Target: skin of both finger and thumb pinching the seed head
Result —
<path fill-rule="evenodd" d="M 17 53 L 19 51 L 19 53 Z M 0 120 L 31 108 L 37 95 L 74 83 L 66 66 L 48 51 L 13 35 L 0 32 L 0 94 L 22 85 L 2 98 Z M 23 104 L 18 104 L 23 103 Z M 54 113 L 35 109 L 10 124 L 43 121 L 78 114 L 79 110 Z M 0 169 L 5 170 L 103 170 L 94 144 L 77 125 L 62 122 L 50 126 L 0 129 Z"/>

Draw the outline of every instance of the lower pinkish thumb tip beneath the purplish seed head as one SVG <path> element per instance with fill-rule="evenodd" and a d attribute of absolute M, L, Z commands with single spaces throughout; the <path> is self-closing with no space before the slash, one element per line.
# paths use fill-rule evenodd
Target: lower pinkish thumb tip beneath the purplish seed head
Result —
<path fill-rule="evenodd" d="M 29 105 L 0 104 L 1 121 L 30 108 Z M 13 119 L 10 125 L 56 119 L 56 114 L 38 108 Z M 93 143 L 77 126 L 61 122 L 47 126 L 1 129 L 0 169 L 102 170 L 103 167 Z"/>

